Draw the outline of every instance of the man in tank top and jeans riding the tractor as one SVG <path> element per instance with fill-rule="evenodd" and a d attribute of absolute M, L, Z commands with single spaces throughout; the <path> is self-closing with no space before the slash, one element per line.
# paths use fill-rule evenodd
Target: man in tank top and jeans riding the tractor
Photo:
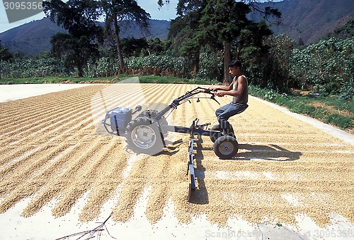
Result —
<path fill-rule="evenodd" d="M 244 73 L 241 71 L 241 61 L 232 61 L 229 64 L 229 73 L 234 77 L 232 83 L 229 86 L 212 87 L 212 90 L 215 91 L 215 95 L 218 97 L 224 97 L 224 95 L 233 97 L 232 102 L 215 111 L 220 128 L 224 130 L 225 134 L 233 136 L 234 131 L 227 120 L 229 120 L 231 116 L 244 112 L 244 110 L 249 107 L 249 105 L 247 105 L 249 100 L 249 86 Z"/>

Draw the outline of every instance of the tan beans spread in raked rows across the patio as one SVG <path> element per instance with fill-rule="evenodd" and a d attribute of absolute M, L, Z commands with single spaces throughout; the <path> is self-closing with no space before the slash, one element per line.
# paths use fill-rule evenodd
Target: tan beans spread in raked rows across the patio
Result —
<path fill-rule="evenodd" d="M 304 213 L 324 226 L 331 213 L 338 213 L 354 223 L 353 145 L 251 99 L 249 109 L 231 119 L 240 144 L 233 160 L 219 160 L 208 138 L 196 148 L 198 189 L 188 203 L 188 135 L 170 134 L 175 143 L 150 157 L 126 152 L 123 138 L 99 135 L 95 125 L 105 110 L 169 104 L 195 86 L 106 87 L 0 103 L 0 213 L 32 198 L 22 212 L 29 217 L 57 199 L 52 215 L 59 217 L 89 193 L 79 213 L 81 221 L 89 221 L 119 194 L 113 220 L 124 222 L 149 188 L 146 215 L 152 223 L 161 218 L 169 199 L 180 222 L 206 214 L 217 224 L 235 215 L 249 222 L 296 224 L 295 215 Z M 132 93 L 137 90 L 143 95 Z M 219 99 L 221 104 L 229 101 Z M 210 100 L 186 103 L 168 120 L 190 126 L 198 117 L 200 123 L 215 124 L 218 106 Z"/>

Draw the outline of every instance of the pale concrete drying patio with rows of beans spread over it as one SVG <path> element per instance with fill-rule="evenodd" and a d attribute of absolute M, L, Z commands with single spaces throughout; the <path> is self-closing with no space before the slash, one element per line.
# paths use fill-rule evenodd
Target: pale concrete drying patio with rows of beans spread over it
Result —
<path fill-rule="evenodd" d="M 238 156 L 218 160 L 207 139 L 198 146 L 200 198 L 186 204 L 185 144 L 144 158 L 125 152 L 122 138 L 94 131 L 102 102 L 135 103 L 130 92 L 138 90 L 138 103 L 169 103 L 190 88 L 0 85 L 0 239 L 58 239 L 98 227 L 111 212 L 101 239 L 353 239 L 350 133 L 250 97 L 232 122 L 242 123 Z M 186 106 L 172 121 L 189 124 L 193 113 L 215 121 L 217 105 Z"/>

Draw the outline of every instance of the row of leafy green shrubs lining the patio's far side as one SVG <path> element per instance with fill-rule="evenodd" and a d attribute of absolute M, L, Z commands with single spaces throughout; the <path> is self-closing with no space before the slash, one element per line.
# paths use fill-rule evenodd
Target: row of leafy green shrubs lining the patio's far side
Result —
<path fill-rule="evenodd" d="M 285 44 L 287 38 L 273 37 L 270 54 L 277 58 L 276 62 L 266 64 L 277 65 L 277 71 L 269 76 L 267 88 L 283 90 L 284 82 L 290 79 L 297 82 L 294 86 L 302 86 L 323 95 L 335 94 L 343 99 L 352 99 L 354 90 L 354 39 L 321 40 L 304 49 L 292 49 L 291 44 Z M 277 50 L 278 49 L 278 50 Z M 286 58 L 280 58 L 284 54 Z M 130 56 L 125 58 L 127 73 L 138 75 L 176 76 L 178 78 L 196 78 L 200 80 L 222 80 L 223 64 L 221 54 L 210 52 L 200 53 L 198 71 L 192 68 L 191 58 L 187 56 L 150 55 Z M 280 66 L 280 65 L 283 66 Z M 264 64 L 263 64 L 264 65 Z M 272 65 L 272 66 L 273 66 Z M 270 67 L 270 66 L 269 66 Z M 268 68 L 263 66 L 263 68 Z M 244 69 L 249 81 L 259 83 L 258 78 L 264 76 L 264 69 L 257 64 L 246 64 Z M 277 72 L 282 71 L 281 74 Z M 1 76 L 7 78 L 29 78 L 44 76 L 75 76 L 76 72 L 69 72 L 59 59 L 49 53 L 35 57 L 24 56 L 11 61 L 0 61 Z M 119 62 L 111 57 L 101 57 L 96 61 L 89 61 L 84 68 L 85 77 L 107 77 L 119 73 Z M 278 79 L 281 78 L 281 79 Z M 285 84 L 287 85 L 287 84 Z"/>

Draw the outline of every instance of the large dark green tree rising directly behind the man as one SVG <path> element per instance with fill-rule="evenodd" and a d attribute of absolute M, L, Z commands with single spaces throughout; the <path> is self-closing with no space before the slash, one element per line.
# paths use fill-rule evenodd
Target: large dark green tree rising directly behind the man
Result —
<path fill-rule="evenodd" d="M 165 2 L 163 1 L 163 4 Z M 236 58 L 239 58 L 241 32 L 249 27 L 249 32 L 255 34 L 253 30 L 256 29 L 251 27 L 256 24 L 247 18 L 247 14 L 251 11 L 259 11 L 264 16 L 280 16 L 280 13 L 273 8 L 261 10 L 253 0 L 180 0 L 177 6 L 178 18 L 171 22 L 169 37 L 175 40 L 175 45 L 180 46 L 181 54 L 193 56 L 195 63 L 193 65 L 197 69 L 200 49 L 203 46 L 209 45 L 215 49 L 215 52 L 222 51 L 224 80 L 229 80 L 228 64 L 232 60 L 233 42 L 238 44 Z M 263 28 L 263 25 L 259 26 Z M 256 32 L 268 36 L 268 32 L 263 29 Z M 259 39 L 263 40 L 263 36 Z"/>

